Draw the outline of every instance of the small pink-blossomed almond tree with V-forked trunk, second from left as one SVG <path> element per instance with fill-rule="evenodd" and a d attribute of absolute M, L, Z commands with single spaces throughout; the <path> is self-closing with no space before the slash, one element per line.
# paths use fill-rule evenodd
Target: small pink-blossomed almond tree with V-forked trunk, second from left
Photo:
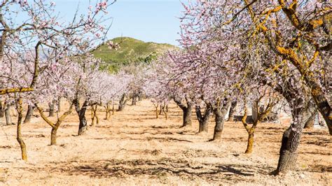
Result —
<path fill-rule="evenodd" d="M 41 118 L 52 127 L 50 145 L 57 144 L 57 130 L 60 128 L 64 119 L 71 113 L 73 103 L 70 104 L 68 110 L 62 113 L 62 115 L 57 114 L 55 122 L 44 114 L 44 109 L 41 104 L 47 103 L 48 100 L 57 100 L 59 97 L 70 101 L 74 96 L 75 81 L 73 74 L 75 68 L 77 68 L 77 64 L 69 62 L 69 60 L 70 59 L 65 58 L 56 64 L 46 65 L 47 68 L 43 68 L 37 80 L 34 92 L 27 94 L 26 97 L 26 99 L 31 101 L 31 104 L 34 104 L 37 110 L 39 110 Z M 57 104 L 55 105 L 57 106 Z M 55 110 L 57 110 L 57 113 L 60 113 L 57 107 Z"/>

